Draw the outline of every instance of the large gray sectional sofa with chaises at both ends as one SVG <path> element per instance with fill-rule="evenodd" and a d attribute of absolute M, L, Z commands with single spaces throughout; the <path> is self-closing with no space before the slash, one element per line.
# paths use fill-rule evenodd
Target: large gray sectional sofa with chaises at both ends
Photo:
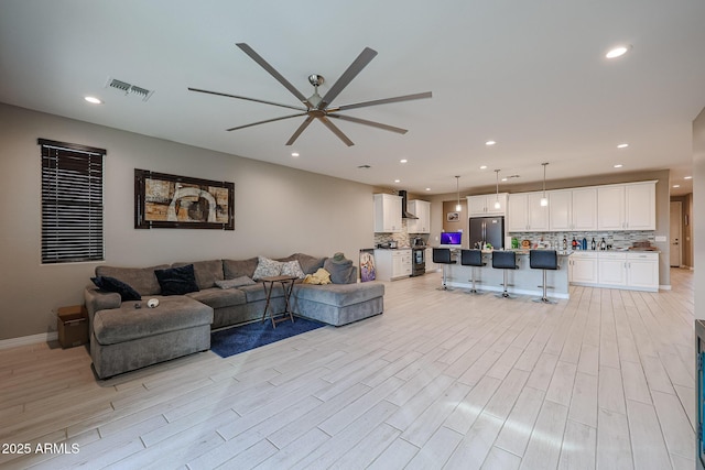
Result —
<path fill-rule="evenodd" d="M 296 260 L 304 274 L 313 274 L 330 259 L 303 253 L 281 262 Z M 197 291 L 183 295 L 162 295 L 156 270 L 193 264 Z M 258 258 L 210 260 L 150 267 L 100 265 L 96 276 L 109 276 L 132 287 L 141 300 L 122 300 L 119 293 L 95 285 L 85 289 L 89 318 L 90 356 L 100 379 L 140 369 L 158 362 L 205 351 L 210 348 L 210 330 L 243 324 L 262 317 L 265 293 L 262 283 L 223 288 L 227 280 L 252 277 Z M 357 269 L 350 266 L 339 284 L 313 285 L 297 282 L 291 304 L 295 315 L 341 326 L 383 310 L 384 285 L 357 283 Z M 149 298 L 158 298 L 149 308 Z M 284 293 L 275 286 L 271 297 L 273 311 L 285 307 Z"/>

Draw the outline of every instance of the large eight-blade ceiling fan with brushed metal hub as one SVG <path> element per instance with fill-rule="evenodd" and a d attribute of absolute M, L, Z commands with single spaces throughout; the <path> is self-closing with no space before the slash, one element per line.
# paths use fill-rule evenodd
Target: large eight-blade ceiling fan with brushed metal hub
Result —
<path fill-rule="evenodd" d="M 406 129 L 395 128 L 393 125 L 382 124 L 380 122 L 368 121 L 366 119 L 354 118 L 351 116 L 339 114 L 339 111 L 347 111 L 349 109 L 364 108 L 368 106 L 387 105 L 390 102 L 400 102 L 400 101 L 410 101 L 414 99 L 431 98 L 431 91 L 426 91 L 426 92 L 420 92 L 420 94 L 413 94 L 413 95 L 399 96 L 394 98 L 377 99 L 372 101 L 364 101 L 364 102 L 356 102 L 352 105 L 343 105 L 343 106 L 332 107 L 330 103 L 333 102 L 333 100 L 340 94 L 340 91 L 343 91 L 345 87 L 349 85 L 352 78 L 355 78 L 357 74 L 359 74 L 367 66 L 367 64 L 369 64 L 372 61 L 372 58 L 375 58 L 375 56 L 377 55 L 377 51 L 373 51 L 369 47 L 365 47 L 365 50 L 360 53 L 360 55 L 357 56 L 357 58 L 352 62 L 352 64 L 350 64 L 347 70 L 345 70 L 345 73 L 330 87 L 330 89 L 325 94 L 323 98 L 318 95 L 318 87 L 324 83 L 323 76 L 317 74 L 313 74 L 308 76 L 308 83 L 313 85 L 314 92 L 312 96 L 306 98 L 291 83 L 289 83 L 286 78 L 284 78 L 279 72 L 276 72 L 274 67 L 272 67 L 258 53 L 256 53 L 254 50 L 252 50 L 252 47 L 250 47 L 248 44 L 238 43 L 237 46 L 240 47 L 240 50 L 242 50 L 242 52 L 245 52 L 247 55 L 249 55 L 250 58 L 257 62 L 262 68 L 264 68 L 272 77 L 274 77 L 280 84 L 282 84 L 289 91 L 291 91 L 291 94 L 294 95 L 305 106 L 305 108 L 301 106 L 282 105 L 279 102 L 267 101 L 263 99 L 248 98 L 248 97 L 238 96 L 238 95 L 229 95 L 229 94 L 219 92 L 219 91 L 209 91 L 209 90 L 189 87 L 188 89 L 191 91 L 224 96 L 228 98 L 245 99 L 248 101 L 263 102 L 264 105 L 279 106 L 281 108 L 295 109 L 300 111 L 295 114 L 282 116 L 281 118 L 267 119 L 264 121 L 252 122 L 250 124 L 245 124 L 245 125 L 238 125 L 236 128 L 227 129 L 228 131 L 236 131 L 238 129 L 245 129 L 245 128 L 251 128 L 252 125 L 264 124 L 267 122 L 274 122 L 274 121 L 281 121 L 284 119 L 296 118 L 300 116 L 306 116 L 306 119 L 304 119 L 304 121 L 301 123 L 299 129 L 296 129 L 296 131 L 292 134 L 292 136 L 286 141 L 286 145 L 292 145 L 296 141 L 296 139 L 299 139 L 301 133 L 308 127 L 308 124 L 311 124 L 311 122 L 313 122 L 314 119 L 318 119 L 321 122 L 325 124 L 326 128 L 328 128 L 334 134 L 336 134 L 338 139 L 345 142 L 346 145 L 350 146 L 350 145 L 354 145 L 352 141 L 348 139 L 348 136 L 345 135 L 343 131 L 338 129 L 338 127 L 336 127 L 333 122 L 330 122 L 330 119 L 328 118 L 340 119 L 344 121 L 356 122 L 358 124 L 364 124 L 364 125 L 370 125 L 370 127 L 382 129 L 390 132 L 405 134 Z"/>

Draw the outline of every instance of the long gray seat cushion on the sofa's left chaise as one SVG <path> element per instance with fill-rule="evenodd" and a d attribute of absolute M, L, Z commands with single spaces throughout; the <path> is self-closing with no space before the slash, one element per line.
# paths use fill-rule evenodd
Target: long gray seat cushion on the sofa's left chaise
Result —
<path fill-rule="evenodd" d="M 213 308 L 185 295 L 160 297 L 156 308 L 120 308 L 96 311 L 93 331 L 100 345 L 117 345 L 138 338 L 210 325 Z"/>

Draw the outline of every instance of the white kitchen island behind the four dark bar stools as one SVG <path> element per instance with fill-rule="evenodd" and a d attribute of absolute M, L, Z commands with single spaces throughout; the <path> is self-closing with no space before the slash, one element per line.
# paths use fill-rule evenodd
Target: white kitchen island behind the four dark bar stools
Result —
<path fill-rule="evenodd" d="M 513 250 L 517 252 L 517 270 L 507 271 L 507 291 L 517 295 L 541 296 L 543 289 L 543 271 L 532 270 L 529 264 L 529 250 Z M 546 271 L 546 282 L 550 287 L 547 296 L 568 298 L 568 256 L 571 251 L 558 251 L 558 269 Z M 456 288 L 471 288 L 473 266 L 460 265 L 460 250 L 453 250 L 455 264 L 447 266 L 447 285 Z M 482 251 L 482 267 L 475 267 L 475 282 L 479 291 L 502 292 L 503 271 L 492 267 L 492 252 Z"/>

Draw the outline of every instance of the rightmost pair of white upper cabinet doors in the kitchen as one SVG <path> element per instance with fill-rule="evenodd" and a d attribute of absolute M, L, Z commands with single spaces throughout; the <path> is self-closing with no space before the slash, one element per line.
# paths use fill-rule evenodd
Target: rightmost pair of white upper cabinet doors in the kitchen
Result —
<path fill-rule="evenodd" d="M 655 230 L 657 182 L 597 188 L 598 230 Z"/>

